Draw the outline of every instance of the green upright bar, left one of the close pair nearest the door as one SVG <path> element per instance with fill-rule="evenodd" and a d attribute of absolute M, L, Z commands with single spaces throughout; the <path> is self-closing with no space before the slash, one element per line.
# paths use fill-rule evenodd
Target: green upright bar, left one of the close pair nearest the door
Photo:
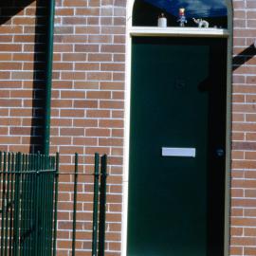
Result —
<path fill-rule="evenodd" d="M 92 256 L 97 254 L 98 234 L 98 205 L 99 205 L 99 154 L 95 154 L 94 166 L 94 200 L 93 200 L 93 233 L 92 233 Z"/>

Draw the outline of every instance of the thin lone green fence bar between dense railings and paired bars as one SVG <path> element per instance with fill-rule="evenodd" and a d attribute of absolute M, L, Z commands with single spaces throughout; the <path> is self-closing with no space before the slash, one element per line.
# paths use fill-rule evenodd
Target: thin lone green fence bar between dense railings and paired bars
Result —
<path fill-rule="evenodd" d="M 76 153 L 75 154 L 75 174 L 74 174 L 72 256 L 76 255 L 77 195 L 78 195 L 78 154 Z"/>

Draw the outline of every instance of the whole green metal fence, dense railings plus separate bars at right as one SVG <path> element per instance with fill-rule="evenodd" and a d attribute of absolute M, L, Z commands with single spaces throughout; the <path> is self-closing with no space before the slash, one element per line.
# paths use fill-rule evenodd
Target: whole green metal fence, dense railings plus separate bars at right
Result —
<path fill-rule="evenodd" d="M 76 154 L 71 173 L 74 174 L 72 256 L 76 254 L 78 162 Z M 1 256 L 56 255 L 60 175 L 59 154 L 0 152 Z M 95 172 L 86 175 L 95 177 L 92 256 L 103 256 L 107 156 L 95 154 Z"/>

